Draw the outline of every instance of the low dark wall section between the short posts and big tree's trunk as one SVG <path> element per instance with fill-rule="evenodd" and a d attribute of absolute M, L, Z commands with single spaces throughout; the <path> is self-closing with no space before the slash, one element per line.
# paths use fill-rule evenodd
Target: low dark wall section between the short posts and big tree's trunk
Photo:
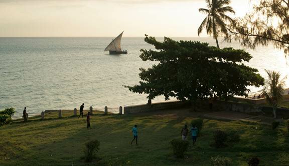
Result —
<path fill-rule="evenodd" d="M 189 107 L 190 102 L 188 101 L 167 101 L 167 102 L 158 102 L 152 104 L 141 104 L 133 106 L 124 106 L 124 114 L 139 113 L 139 112 L 148 112 L 161 109 L 172 109 L 172 108 L 182 108 Z"/>

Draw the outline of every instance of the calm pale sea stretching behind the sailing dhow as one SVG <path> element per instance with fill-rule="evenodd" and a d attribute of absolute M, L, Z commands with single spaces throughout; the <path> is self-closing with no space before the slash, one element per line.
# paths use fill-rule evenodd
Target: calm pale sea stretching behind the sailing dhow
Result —
<path fill-rule="evenodd" d="M 104 48 L 113 37 L 0 37 L 0 110 L 16 109 L 21 117 L 24 107 L 30 115 L 45 109 L 85 109 L 118 107 L 147 103 L 145 94 L 130 92 L 123 85 L 136 84 L 139 68 L 153 62 L 142 61 L 140 49 L 153 49 L 143 37 L 123 37 L 122 49 L 128 54 L 109 55 Z M 216 45 L 211 37 L 172 37 L 199 40 Z M 158 37 L 163 40 L 163 37 Z M 221 47 L 242 48 L 240 43 L 222 42 Z M 272 45 L 255 50 L 245 48 L 253 58 L 249 63 L 266 77 L 264 69 L 289 73 L 282 50 Z M 288 81 L 286 81 L 287 84 Z M 255 93 L 260 87 L 250 87 Z M 160 96 L 153 102 L 164 101 Z"/>

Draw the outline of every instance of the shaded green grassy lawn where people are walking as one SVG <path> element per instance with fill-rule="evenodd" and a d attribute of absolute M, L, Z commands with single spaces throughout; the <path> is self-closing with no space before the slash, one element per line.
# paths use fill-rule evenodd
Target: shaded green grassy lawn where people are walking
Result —
<path fill-rule="evenodd" d="M 80 159 L 84 143 L 93 139 L 100 141 L 99 156 L 125 157 L 129 165 L 209 165 L 209 158 L 216 155 L 232 158 L 234 165 L 246 165 L 250 155 L 259 156 L 261 165 L 289 163 L 289 134 L 285 128 L 272 130 L 261 124 L 212 119 L 205 119 L 202 135 L 197 145 L 190 147 L 186 159 L 175 159 L 169 142 L 180 138 L 183 124 L 195 118 L 194 113 L 182 111 L 187 114 L 96 114 L 90 130 L 86 129 L 85 118 L 77 117 L 43 121 L 35 117 L 27 124 L 15 121 L 0 128 L 0 165 L 85 165 Z M 138 124 L 139 145 L 131 146 L 133 124 Z M 217 128 L 238 130 L 241 141 L 223 149 L 210 147 Z"/>

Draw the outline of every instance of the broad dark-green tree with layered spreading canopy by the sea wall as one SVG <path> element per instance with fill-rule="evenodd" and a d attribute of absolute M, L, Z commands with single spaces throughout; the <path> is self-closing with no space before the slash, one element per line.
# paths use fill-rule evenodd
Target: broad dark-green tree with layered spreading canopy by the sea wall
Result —
<path fill-rule="evenodd" d="M 141 49 L 140 58 L 158 62 L 151 68 L 140 68 L 141 81 L 126 86 L 130 91 L 148 94 L 149 99 L 164 95 L 165 99 L 206 98 L 217 94 L 226 98 L 247 95 L 247 86 L 260 86 L 264 78 L 255 68 L 244 65 L 252 56 L 242 49 L 217 48 L 198 41 L 175 41 L 165 37 L 159 42 L 146 35 L 145 41 L 156 49 Z"/>

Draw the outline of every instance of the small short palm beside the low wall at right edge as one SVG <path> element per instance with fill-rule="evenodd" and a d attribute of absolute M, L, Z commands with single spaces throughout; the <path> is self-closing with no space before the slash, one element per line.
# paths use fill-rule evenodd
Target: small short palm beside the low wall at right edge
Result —
<path fill-rule="evenodd" d="M 276 71 L 266 70 L 268 79 L 265 81 L 263 93 L 265 94 L 267 101 L 273 107 L 274 118 L 276 118 L 276 108 L 280 100 L 282 100 L 282 94 L 284 92 L 285 77 L 280 78 L 280 73 Z"/>

